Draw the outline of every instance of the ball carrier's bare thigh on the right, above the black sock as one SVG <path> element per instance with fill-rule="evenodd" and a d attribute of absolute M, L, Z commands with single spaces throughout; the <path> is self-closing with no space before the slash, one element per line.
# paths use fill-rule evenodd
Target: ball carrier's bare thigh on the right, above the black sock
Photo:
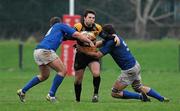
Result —
<path fill-rule="evenodd" d="M 98 61 L 90 62 L 88 66 L 93 76 L 100 75 L 100 63 Z"/>

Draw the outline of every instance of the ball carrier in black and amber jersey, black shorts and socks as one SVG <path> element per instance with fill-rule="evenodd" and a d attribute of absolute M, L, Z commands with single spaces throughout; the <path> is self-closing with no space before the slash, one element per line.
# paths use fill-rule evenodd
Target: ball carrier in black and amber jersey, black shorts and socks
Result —
<path fill-rule="evenodd" d="M 95 23 L 96 13 L 93 10 L 85 10 L 83 15 L 83 21 L 81 23 L 76 23 L 74 28 L 78 32 L 87 31 L 92 34 L 91 40 L 95 43 L 96 37 L 101 33 L 101 25 Z M 92 48 L 86 45 L 82 41 L 77 41 L 77 44 L 80 45 L 85 51 L 95 51 L 96 48 Z M 100 63 L 99 59 L 85 55 L 79 51 L 76 52 L 75 56 L 75 81 L 74 81 L 74 90 L 76 101 L 80 102 L 81 90 L 82 90 L 82 80 L 85 68 L 88 66 L 92 75 L 93 75 L 93 86 L 94 94 L 92 97 L 92 102 L 98 102 L 98 91 L 101 82 L 100 78 Z"/>

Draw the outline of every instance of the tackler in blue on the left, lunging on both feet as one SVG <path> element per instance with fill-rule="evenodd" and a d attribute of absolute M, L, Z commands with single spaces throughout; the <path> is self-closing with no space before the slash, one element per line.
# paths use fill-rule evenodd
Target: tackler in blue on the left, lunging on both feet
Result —
<path fill-rule="evenodd" d="M 77 38 L 90 44 L 91 46 L 94 46 L 93 42 L 88 39 L 88 37 L 75 31 L 74 28 L 60 23 L 59 17 L 52 17 L 50 19 L 50 25 L 51 28 L 34 50 L 34 59 L 39 66 L 40 73 L 32 78 L 32 80 L 29 81 L 22 89 L 17 91 L 17 95 L 19 96 L 21 102 L 25 102 L 25 94 L 30 88 L 48 79 L 50 75 L 49 68 L 54 69 L 57 74 L 54 77 L 51 89 L 46 98 L 50 102 L 56 101 L 55 93 L 66 75 L 66 68 L 55 52 L 60 46 L 64 35 Z"/>

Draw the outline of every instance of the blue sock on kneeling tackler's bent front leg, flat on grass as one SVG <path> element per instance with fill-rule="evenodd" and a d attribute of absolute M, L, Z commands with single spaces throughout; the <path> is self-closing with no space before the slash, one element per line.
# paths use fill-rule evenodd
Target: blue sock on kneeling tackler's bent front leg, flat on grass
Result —
<path fill-rule="evenodd" d="M 123 98 L 124 99 L 141 99 L 141 95 L 138 93 L 129 92 L 129 91 L 124 90 Z"/>

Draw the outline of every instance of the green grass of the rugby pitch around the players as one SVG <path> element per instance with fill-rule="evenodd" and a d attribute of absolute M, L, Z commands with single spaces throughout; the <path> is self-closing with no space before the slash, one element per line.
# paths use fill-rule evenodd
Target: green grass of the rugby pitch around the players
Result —
<path fill-rule="evenodd" d="M 54 77 L 35 86 L 27 93 L 27 102 L 21 103 L 16 90 L 23 87 L 38 68 L 33 60 L 35 44 L 24 45 L 23 70 L 18 68 L 18 42 L 0 42 L 0 110 L 1 111 L 179 111 L 180 73 L 178 72 L 177 40 L 128 41 L 129 48 L 140 62 L 145 85 L 151 86 L 162 95 L 171 98 L 169 103 L 143 103 L 137 100 L 113 99 L 111 87 L 120 74 L 120 69 L 107 55 L 103 58 L 100 102 L 91 103 L 92 76 L 87 70 L 83 81 L 82 101 L 74 102 L 73 77 L 67 77 L 58 89 L 59 103 L 51 104 L 45 100 Z M 132 91 L 131 87 L 128 90 Z"/>

